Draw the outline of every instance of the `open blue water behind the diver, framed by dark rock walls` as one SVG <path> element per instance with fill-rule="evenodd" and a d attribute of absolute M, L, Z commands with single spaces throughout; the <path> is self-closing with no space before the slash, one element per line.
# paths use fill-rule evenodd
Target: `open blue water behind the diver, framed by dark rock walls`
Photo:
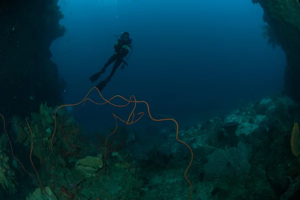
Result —
<path fill-rule="evenodd" d="M 222 115 L 243 102 L 282 90 L 285 56 L 263 36 L 262 9 L 250 0 L 66 0 L 67 32 L 51 45 L 67 82 L 65 103 L 76 103 L 95 84 L 88 77 L 113 54 L 115 36 L 128 31 L 133 52 L 102 90 L 105 98 L 135 95 L 152 115 L 171 115 L 179 128 Z M 111 70 L 101 76 L 105 78 Z M 91 97 L 100 100 L 96 93 Z M 142 106 L 138 110 L 144 110 Z M 89 131 L 131 110 L 88 103 L 74 108 Z M 158 116 L 157 116 L 158 118 Z M 149 124 L 148 118 L 139 122 Z"/>

